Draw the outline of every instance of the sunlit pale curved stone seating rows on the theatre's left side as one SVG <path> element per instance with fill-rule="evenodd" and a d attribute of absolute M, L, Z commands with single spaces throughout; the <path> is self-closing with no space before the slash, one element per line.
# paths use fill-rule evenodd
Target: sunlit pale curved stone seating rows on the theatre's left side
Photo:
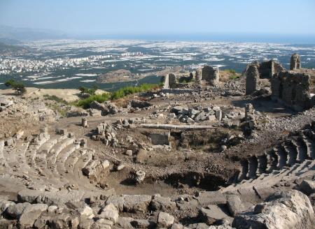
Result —
<path fill-rule="evenodd" d="M 83 175 L 83 168 L 94 161 L 93 156 L 87 140 L 76 140 L 66 130 L 48 134 L 48 129 L 43 128 L 31 138 L 0 140 L 0 179 L 17 179 L 17 183 L 30 189 L 59 189 L 73 184 L 94 190 Z"/>

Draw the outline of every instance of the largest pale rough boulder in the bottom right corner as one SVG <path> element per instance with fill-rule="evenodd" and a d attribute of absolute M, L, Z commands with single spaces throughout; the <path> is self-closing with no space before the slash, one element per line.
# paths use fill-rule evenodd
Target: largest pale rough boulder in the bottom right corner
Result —
<path fill-rule="evenodd" d="M 274 193 L 266 202 L 255 205 L 253 212 L 236 216 L 232 223 L 233 227 L 239 229 L 311 229 L 314 225 L 314 209 L 309 198 L 296 190 Z"/>

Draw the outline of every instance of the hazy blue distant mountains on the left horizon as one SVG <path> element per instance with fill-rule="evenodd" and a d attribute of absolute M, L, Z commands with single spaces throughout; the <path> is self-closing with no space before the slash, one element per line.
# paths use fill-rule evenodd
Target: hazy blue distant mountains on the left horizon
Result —
<path fill-rule="evenodd" d="M 50 29 L 15 28 L 0 25 L 0 41 L 17 45 L 20 40 L 63 39 L 67 38 L 63 31 Z"/>

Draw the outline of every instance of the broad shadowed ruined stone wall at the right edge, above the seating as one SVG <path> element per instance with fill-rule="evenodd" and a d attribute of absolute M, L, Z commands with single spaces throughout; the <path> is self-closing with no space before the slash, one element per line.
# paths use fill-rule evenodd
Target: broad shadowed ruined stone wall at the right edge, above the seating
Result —
<path fill-rule="evenodd" d="M 294 110 L 304 110 L 315 105 L 314 96 L 310 94 L 311 75 L 286 71 L 272 77 L 272 96 L 283 101 Z"/>

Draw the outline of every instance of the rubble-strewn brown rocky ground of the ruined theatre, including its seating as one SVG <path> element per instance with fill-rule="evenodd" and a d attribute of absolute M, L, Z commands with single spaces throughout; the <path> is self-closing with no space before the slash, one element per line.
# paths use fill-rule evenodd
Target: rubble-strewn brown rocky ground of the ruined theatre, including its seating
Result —
<path fill-rule="evenodd" d="M 314 108 L 188 87 L 64 114 L 0 96 L 0 228 L 315 228 Z"/>

